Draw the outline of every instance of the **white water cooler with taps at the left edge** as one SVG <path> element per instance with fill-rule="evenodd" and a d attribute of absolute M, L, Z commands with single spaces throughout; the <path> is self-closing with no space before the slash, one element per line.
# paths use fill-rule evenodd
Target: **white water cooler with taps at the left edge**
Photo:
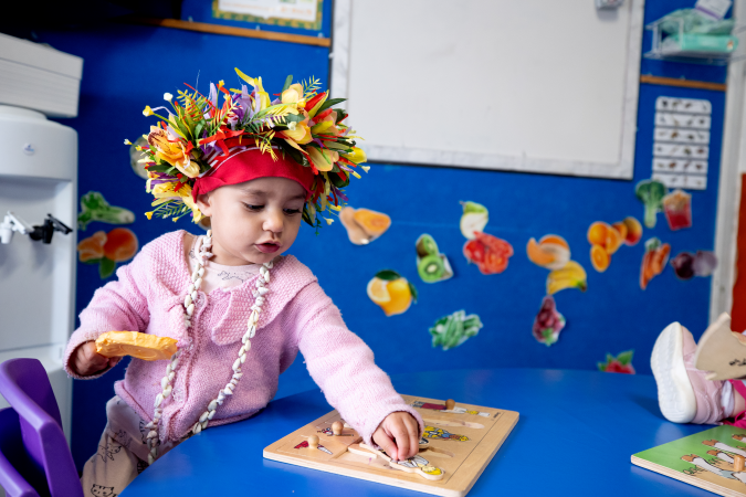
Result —
<path fill-rule="evenodd" d="M 77 133 L 46 116 L 77 114 L 82 70 L 80 57 L 0 34 L 0 362 L 42 362 L 67 440 L 62 352 L 75 324 Z M 73 232 L 54 230 L 63 225 Z M 34 240 L 42 232 L 51 240 Z"/>

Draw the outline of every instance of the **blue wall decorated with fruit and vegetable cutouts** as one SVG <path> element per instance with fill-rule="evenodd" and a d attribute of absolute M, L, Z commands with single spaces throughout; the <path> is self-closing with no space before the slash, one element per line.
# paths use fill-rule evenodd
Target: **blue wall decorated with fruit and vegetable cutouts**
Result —
<path fill-rule="evenodd" d="M 328 14 L 329 2 L 326 3 Z M 690 7 L 691 2 L 647 3 L 650 22 L 676 7 Z M 185 17 L 209 21 L 199 18 L 200 11 L 193 6 L 185 2 Z M 328 35 L 328 23 L 323 34 Z M 174 225 L 168 221 L 148 222 L 143 215 L 150 210 L 150 198 L 145 194 L 144 181 L 132 172 L 128 149 L 122 142 L 148 129 L 151 119 L 140 114 L 145 105 L 160 105 L 164 92 L 176 94 L 185 82 L 193 85 L 198 73 L 202 89 L 208 82 L 221 78 L 234 85 L 234 66 L 262 75 L 267 88 L 282 87 L 287 74 L 296 80 L 315 75 L 328 81 L 328 50 L 321 47 L 124 24 L 44 31 L 39 36 L 39 41 L 85 59 L 80 116 L 62 120 L 80 136 L 80 193 L 101 191 L 112 204 L 135 212 L 136 222 L 128 228 L 140 244 L 177 228 L 200 232 L 187 220 Z M 643 51 L 649 46 L 645 35 Z M 658 61 L 643 61 L 642 73 L 714 82 L 725 78 L 719 67 Z M 692 229 L 671 232 L 663 214 L 659 214 L 658 225 L 644 230 L 640 244 L 622 246 L 610 267 L 597 273 L 589 261 L 589 224 L 612 223 L 628 215 L 642 220 L 643 208 L 633 190 L 637 181 L 651 173 L 653 109 L 660 95 L 713 103 L 710 188 L 692 192 Z M 369 175 L 354 182 L 350 204 L 386 212 L 393 220 L 390 230 L 368 246 L 355 246 L 339 223 L 324 229 L 319 236 L 304 229 L 291 252 L 318 275 L 349 328 L 370 345 L 388 372 L 472 367 L 596 369 L 607 352 L 634 349 L 638 372 L 650 373 L 650 350 L 665 325 L 679 320 L 695 336 L 707 325 L 710 278 L 682 282 L 668 267 L 644 292 L 638 279 L 643 242 L 651 236 L 670 243 L 672 255 L 714 246 L 718 171 L 713 165 L 719 163 L 724 103 L 724 93 L 641 85 L 633 181 L 374 165 Z M 360 133 L 365 135 L 364 129 Z M 400 187 L 391 190 L 391 184 Z M 485 232 L 513 244 L 515 255 L 503 274 L 484 276 L 462 255 L 459 201 L 465 200 L 485 204 L 490 210 Z M 111 228 L 93 223 L 77 234 L 78 240 Z M 440 251 L 449 256 L 455 273 L 452 279 L 429 285 L 417 276 L 414 241 L 422 233 L 433 235 Z M 563 235 L 570 244 L 572 258 L 588 272 L 586 293 L 567 289 L 556 295 L 567 327 L 551 347 L 538 343 L 532 336 L 548 272 L 532 264 L 525 253 L 529 237 L 539 239 L 547 233 Z M 366 284 L 377 271 L 389 267 L 417 285 L 420 300 L 406 314 L 387 318 L 368 299 Z M 96 266 L 84 264 L 78 264 L 77 282 L 80 311 L 104 282 Z M 437 318 L 462 308 L 481 316 L 485 326 L 480 335 L 456 349 L 433 349 L 428 328 Z M 95 452 L 105 424 L 105 401 L 113 394 L 113 382 L 123 374 L 124 368 L 118 367 L 101 380 L 74 384 L 72 434 L 78 465 Z M 281 380 L 281 394 L 312 387 L 298 358 Z"/>

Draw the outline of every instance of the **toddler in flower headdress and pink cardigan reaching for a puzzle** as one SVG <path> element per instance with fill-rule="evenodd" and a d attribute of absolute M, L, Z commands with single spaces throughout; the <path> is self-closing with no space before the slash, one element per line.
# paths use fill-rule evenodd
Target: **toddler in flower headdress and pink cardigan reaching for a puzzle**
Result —
<path fill-rule="evenodd" d="M 85 464 L 84 491 L 120 493 L 156 457 L 208 426 L 250 417 L 277 390 L 297 351 L 327 401 L 393 459 L 418 452 L 418 413 L 349 331 L 311 271 L 292 255 L 302 221 L 317 230 L 321 213 L 339 210 L 343 188 L 365 154 L 343 124 L 339 101 L 317 82 L 291 85 L 271 101 L 261 78 L 238 74 L 253 91 L 208 97 L 170 94 L 168 117 L 143 147 L 148 218 L 209 219 L 204 236 L 185 231 L 148 243 L 99 288 L 81 313 L 65 351 L 74 378 L 98 378 L 120 358 L 96 352 L 109 330 L 178 340 L 168 361 L 133 358 L 106 404 L 98 452 Z M 218 96 L 224 95 L 223 105 Z M 161 107 L 162 108 L 162 107 Z M 364 168 L 367 170 L 367 168 Z M 330 223 L 329 220 L 326 220 Z M 337 266 L 346 260 L 335 251 Z"/>

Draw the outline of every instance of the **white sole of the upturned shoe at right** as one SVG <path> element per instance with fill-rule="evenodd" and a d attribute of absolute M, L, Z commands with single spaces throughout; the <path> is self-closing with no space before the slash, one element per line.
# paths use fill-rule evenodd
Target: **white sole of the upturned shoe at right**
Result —
<path fill-rule="evenodd" d="M 674 423 L 689 423 L 696 415 L 696 398 L 684 366 L 683 349 L 683 330 L 679 322 L 673 322 L 658 336 L 650 359 L 661 412 Z"/>

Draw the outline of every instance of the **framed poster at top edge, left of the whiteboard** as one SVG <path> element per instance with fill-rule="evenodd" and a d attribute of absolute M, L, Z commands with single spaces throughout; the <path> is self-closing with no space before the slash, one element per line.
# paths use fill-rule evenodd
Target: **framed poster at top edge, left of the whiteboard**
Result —
<path fill-rule="evenodd" d="M 318 31 L 324 0 L 213 0 L 212 17 Z"/>

